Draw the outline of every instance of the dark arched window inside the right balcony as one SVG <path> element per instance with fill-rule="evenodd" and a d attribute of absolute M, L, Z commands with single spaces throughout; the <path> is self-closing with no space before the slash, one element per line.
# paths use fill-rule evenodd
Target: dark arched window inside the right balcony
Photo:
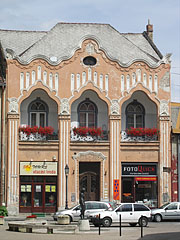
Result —
<path fill-rule="evenodd" d="M 144 127 L 145 109 L 137 100 L 129 103 L 126 107 L 126 128 Z"/>

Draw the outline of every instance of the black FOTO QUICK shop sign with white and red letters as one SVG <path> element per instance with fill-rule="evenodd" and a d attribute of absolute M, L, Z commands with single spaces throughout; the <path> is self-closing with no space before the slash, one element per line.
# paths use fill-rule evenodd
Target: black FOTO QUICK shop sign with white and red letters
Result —
<path fill-rule="evenodd" d="M 139 176 L 139 175 L 157 175 L 156 165 L 145 164 L 122 164 L 122 175 Z"/>

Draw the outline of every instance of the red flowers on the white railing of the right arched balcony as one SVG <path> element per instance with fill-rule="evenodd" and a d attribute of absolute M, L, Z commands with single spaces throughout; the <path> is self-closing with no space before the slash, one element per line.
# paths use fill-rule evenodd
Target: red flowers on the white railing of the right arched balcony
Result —
<path fill-rule="evenodd" d="M 122 131 L 122 141 L 157 141 L 159 130 L 157 128 L 129 128 Z"/>

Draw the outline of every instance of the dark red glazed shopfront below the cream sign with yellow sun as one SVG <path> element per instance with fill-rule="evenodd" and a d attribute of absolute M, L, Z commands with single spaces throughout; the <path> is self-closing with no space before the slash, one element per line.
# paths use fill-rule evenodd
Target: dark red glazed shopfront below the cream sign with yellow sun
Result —
<path fill-rule="evenodd" d="M 19 211 L 46 212 L 56 211 L 57 177 L 21 176 Z"/>

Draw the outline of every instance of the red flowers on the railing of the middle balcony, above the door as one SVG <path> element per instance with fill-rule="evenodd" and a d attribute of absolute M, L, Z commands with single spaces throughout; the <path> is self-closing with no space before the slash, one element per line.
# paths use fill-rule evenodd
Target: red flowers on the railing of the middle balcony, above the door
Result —
<path fill-rule="evenodd" d="M 71 132 L 71 140 L 74 141 L 94 141 L 102 138 L 103 131 L 100 127 L 74 127 Z"/>

